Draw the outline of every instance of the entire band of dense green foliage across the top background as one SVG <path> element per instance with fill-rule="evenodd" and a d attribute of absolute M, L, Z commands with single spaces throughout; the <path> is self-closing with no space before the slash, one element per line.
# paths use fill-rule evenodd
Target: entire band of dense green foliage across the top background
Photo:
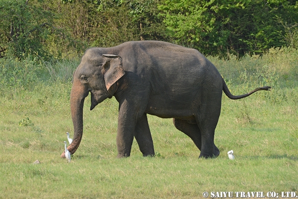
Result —
<path fill-rule="evenodd" d="M 1 0 L 0 17 L 0 57 L 71 58 L 129 40 L 214 56 L 298 47 L 296 0 Z"/>

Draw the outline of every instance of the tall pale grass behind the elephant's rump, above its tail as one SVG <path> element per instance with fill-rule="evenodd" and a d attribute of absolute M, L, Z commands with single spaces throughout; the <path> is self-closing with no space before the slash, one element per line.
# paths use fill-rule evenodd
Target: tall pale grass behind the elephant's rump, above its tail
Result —
<path fill-rule="evenodd" d="M 265 54 L 228 59 L 208 57 L 228 83 L 245 86 L 270 84 L 272 87 L 297 87 L 298 49 L 271 48 Z M 293 84 L 294 83 L 294 84 Z"/>

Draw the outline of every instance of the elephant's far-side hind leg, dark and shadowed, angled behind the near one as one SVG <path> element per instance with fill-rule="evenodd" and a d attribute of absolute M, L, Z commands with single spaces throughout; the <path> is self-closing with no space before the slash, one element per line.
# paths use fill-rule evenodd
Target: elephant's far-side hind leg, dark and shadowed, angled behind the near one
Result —
<path fill-rule="evenodd" d="M 198 149 L 201 151 L 202 148 L 202 138 L 201 138 L 201 131 L 197 124 L 191 124 L 188 123 L 186 120 L 173 118 L 174 126 L 188 135 L 195 145 L 198 147 Z"/>

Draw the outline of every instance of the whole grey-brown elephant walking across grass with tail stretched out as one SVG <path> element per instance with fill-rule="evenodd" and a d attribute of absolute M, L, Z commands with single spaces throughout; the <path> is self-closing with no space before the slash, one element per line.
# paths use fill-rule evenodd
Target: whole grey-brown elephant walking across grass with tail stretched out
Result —
<path fill-rule="evenodd" d="M 233 96 L 216 67 L 198 50 L 167 42 L 129 41 L 89 48 L 74 72 L 70 98 L 74 139 L 68 150 L 74 154 L 80 144 L 83 104 L 90 93 L 90 110 L 113 96 L 119 102 L 117 158 L 130 156 L 134 137 L 143 156 L 154 156 L 147 114 L 173 118 L 174 126 L 201 151 L 199 157 L 218 157 L 214 134 L 223 91 L 237 100 L 270 88 Z"/>

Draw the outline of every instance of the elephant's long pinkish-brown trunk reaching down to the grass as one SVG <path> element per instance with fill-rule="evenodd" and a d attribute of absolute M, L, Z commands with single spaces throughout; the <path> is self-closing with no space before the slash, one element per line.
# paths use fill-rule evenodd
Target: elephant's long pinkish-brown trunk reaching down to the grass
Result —
<path fill-rule="evenodd" d="M 74 154 L 78 148 L 83 135 L 83 106 L 84 100 L 88 96 L 88 89 L 82 85 L 79 80 L 74 80 L 71 91 L 71 113 L 74 124 L 74 139 L 67 148 L 71 154 Z M 65 152 L 61 155 L 65 158 Z"/>

